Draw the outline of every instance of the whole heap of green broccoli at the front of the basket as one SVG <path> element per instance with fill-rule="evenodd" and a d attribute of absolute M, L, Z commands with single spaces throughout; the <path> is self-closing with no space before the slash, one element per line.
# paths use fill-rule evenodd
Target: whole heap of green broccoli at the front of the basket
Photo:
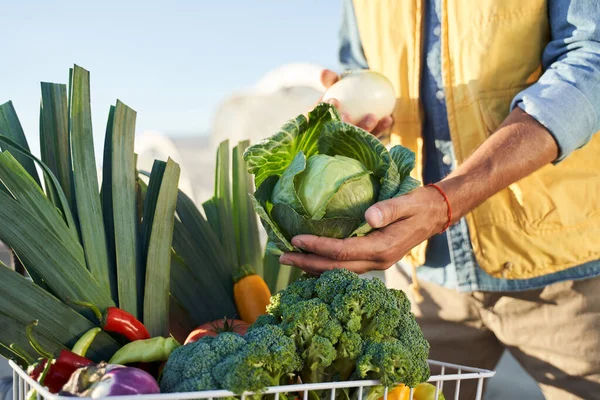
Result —
<path fill-rule="evenodd" d="M 295 378 L 376 379 L 383 386 L 415 387 L 429 378 L 428 354 L 404 292 L 339 269 L 303 276 L 274 295 L 268 314 L 244 336 L 226 332 L 177 348 L 160 384 L 164 392 L 235 393 Z M 369 398 L 380 397 L 383 386 Z"/>

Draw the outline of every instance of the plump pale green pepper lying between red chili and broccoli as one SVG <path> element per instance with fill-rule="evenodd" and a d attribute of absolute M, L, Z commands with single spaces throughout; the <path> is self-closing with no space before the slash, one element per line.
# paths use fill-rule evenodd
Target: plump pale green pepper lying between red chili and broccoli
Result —
<path fill-rule="evenodd" d="M 173 350 L 181 345 L 172 337 L 154 337 L 136 340 L 121 347 L 112 356 L 109 364 L 132 364 L 138 362 L 166 361 Z"/>

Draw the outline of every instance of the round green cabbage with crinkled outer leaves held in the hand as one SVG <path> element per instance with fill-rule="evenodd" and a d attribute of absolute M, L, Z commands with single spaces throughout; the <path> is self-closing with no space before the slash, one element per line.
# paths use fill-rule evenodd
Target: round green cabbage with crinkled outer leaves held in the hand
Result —
<path fill-rule="evenodd" d="M 250 146 L 244 159 L 254 175 L 252 201 L 272 254 L 297 251 L 290 241 L 299 234 L 366 235 L 372 230 L 364 217 L 367 208 L 419 186 L 410 176 L 412 151 L 402 146 L 388 151 L 325 103 L 308 119 L 300 115 Z"/>

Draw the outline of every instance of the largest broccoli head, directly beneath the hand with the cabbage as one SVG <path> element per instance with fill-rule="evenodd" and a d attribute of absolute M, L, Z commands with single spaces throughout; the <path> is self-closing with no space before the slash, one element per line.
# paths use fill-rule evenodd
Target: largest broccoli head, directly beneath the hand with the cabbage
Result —
<path fill-rule="evenodd" d="M 303 382 L 359 376 L 359 359 L 364 369 L 361 376 L 377 376 L 373 379 L 384 384 L 397 383 L 392 381 L 402 368 L 414 372 L 412 378 L 402 375 L 407 383 L 429 376 L 429 345 L 408 297 L 400 290 L 388 289 L 379 279 L 362 279 L 344 269 L 305 276 L 273 296 L 267 312 L 257 325 L 278 325 L 294 339 L 303 362 Z M 410 364 L 383 374 L 381 363 L 392 361 L 377 358 L 380 354 L 398 356 L 398 362 Z M 379 369 L 368 368 L 375 365 Z"/>

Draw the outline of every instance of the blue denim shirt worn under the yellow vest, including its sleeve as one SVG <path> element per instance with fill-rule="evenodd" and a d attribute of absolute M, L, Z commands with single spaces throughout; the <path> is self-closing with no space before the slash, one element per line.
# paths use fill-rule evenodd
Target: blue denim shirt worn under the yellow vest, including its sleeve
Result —
<path fill-rule="evenodd" d="M 599 4 L 598 0 L 548 0 L 552 40 L 543 54 L 544 73 L 511 105 L 511 109 L 523 109 L 553 135 L 559 147 L 555 163 L 600 131 Z M 441 180 L 456 167 L 442 82 L 440 20 L 441 0 L 425 0 L 420 82 L 425 184 Z M 339 59 L 345 69 L 368 68 L 352 0 L 343 3 Z M 463 218 L 429 240 L 425 265 L 417 273 L 420 279 L 463 292 L 519 291 L 600 275 L 600 260 L 533 279 L 494 278 L 478 266 Z"/>

